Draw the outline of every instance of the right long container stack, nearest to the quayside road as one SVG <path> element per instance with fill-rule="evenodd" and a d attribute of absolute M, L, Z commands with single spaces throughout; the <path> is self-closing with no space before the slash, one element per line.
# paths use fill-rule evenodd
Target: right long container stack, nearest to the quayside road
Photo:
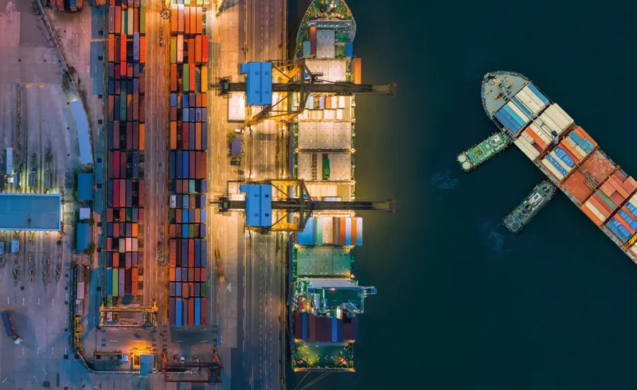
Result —
<path fill-rule="evenodd" d="M 208 38 L 202 0 L 171 3 L 168 318 L 198 326 L 207 322 Z"/>

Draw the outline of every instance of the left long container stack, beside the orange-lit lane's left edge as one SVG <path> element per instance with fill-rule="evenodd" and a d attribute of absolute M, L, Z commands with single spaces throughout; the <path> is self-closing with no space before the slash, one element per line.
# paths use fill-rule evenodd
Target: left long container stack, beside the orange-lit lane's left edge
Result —
<path fill-rule="evenodd" d="M 109 0 L 108 306 L 124 303 L 127 296 L 139 302 L 142 293 L 138 276 L 144 264 L 146 4 L 147 0 Z"/>

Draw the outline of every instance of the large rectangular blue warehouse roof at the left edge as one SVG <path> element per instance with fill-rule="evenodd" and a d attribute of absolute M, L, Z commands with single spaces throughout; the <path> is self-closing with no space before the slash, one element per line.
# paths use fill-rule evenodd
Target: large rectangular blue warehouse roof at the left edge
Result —
<path fill-rule="evenodd" d="M 59 230 L 59 194 L 0 194 L 0 230 Z"/>

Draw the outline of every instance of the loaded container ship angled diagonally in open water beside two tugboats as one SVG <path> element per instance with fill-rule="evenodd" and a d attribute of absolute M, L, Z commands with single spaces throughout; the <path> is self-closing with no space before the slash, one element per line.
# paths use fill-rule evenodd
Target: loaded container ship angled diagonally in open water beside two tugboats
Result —
<path fill-rule="evenodd" d="M 522 74 L 486 74 L 481 96 L 500 131 L 637 263 L 637 182 Z"/>

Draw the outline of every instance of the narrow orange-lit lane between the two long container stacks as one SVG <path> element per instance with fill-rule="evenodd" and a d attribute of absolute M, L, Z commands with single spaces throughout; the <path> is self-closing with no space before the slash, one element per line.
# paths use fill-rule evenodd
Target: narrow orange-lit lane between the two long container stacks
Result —
<path fill-rule="evenodd" d="M 170 30 L 159 16 L 163 0 L 147 3 L 146 18 L 146 126 L 144 171 L 146 196 L 144 200 L 144 306 L 156 299 L 159 322 L 166 318 L 168 293 L 166 268 L 158 265 L 159 251 L 168 255 L 166 246 L 166 215 L 168 193 L 166 186 L 166 124 L 168 123 L 168 53 Z M 163 30 L 163 42 L 160 34 Z M 161 245 L 159 245 L 161 243 Z"/>

